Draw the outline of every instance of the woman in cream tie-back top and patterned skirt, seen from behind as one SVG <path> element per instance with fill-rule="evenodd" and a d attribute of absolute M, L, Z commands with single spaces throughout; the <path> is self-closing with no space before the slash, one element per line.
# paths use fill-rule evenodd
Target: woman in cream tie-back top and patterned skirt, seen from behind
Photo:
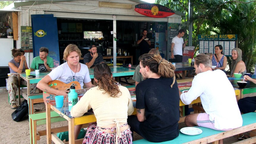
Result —
<path fill-rule="evenodd" d="M 107 64 L 97 64 L 94 68 L 97 86 L 87 91 L 72 107 L 71 116 L 80 117 L 93 109 L 97 123 L 88 126 L 83 143 L 132 143 L 132 132 L 127 124 L 127 115 L 134 108 L 129 90 L 116 85 Z"/>

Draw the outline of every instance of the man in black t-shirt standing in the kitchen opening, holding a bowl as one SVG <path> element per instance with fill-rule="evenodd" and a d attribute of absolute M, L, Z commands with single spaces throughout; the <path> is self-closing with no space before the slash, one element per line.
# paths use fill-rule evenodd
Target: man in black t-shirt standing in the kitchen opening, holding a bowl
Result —
<path fill-rule="evenodd" d="M 140 55 L 149 52 L 149 48 L 151 45 L 150 40 L 147 38 L 148 31 L 146 29 L 142 30 L 142 36 L 139 37 L 137 44 L 140 44 Z"/>

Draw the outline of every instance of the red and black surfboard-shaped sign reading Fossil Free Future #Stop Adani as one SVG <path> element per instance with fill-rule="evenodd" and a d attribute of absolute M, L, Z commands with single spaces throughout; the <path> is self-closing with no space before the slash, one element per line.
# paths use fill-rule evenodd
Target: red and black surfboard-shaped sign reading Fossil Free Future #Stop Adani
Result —
<path fill-rule="evenodd" d="M 152 18 L 165 18 L 175 14 L 173 10 L 160 4 L 138 4 L 135 5 L 135 11 Z"/>

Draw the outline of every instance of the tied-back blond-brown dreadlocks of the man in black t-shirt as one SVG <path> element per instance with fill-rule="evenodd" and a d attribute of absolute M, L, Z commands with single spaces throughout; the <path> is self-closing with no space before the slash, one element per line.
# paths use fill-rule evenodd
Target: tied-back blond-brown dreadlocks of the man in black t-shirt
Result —
<path fill-rule="evenodd" d="M 166 78 L 173 78 L 173 83 L 171 87 L 173 87 L 173 84 L 175 83 L 175 67 L 172 63 L 168 62 L 164 58 L 162 58 L 160 55 L 153 55 L 153 54 L 144 54 L 140 56 L 139 61 L 141 62 L 143 67 L 148 66 L 149 69 L 157 73 L 158 75 Z"/>

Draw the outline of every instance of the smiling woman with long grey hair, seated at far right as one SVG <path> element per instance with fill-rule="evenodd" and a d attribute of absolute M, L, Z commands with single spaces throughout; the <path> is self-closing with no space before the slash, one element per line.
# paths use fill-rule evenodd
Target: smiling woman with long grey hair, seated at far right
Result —
<path fill-rule="evenodd" d="M 232 50 L 232 63 L 231 63 L 230 77 L 234 77 L 234 73 L 240 72 L 242 76 L 246 73 L 246 66 L 242 61 L 242 50 L 240 48 L 234 48 Z"/>

